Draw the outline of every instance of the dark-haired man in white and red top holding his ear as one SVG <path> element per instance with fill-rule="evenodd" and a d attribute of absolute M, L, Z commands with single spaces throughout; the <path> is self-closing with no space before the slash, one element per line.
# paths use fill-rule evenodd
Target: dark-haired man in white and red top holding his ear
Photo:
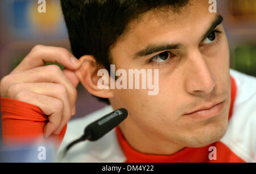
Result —
<path fill-rule="evenodd" d="M 79 63 L 67 50 L 39 45 L 2 79 L 6 143 L 44 131 L 46 139 L 51 135 L 59 142 L 65 134 L 62 149 L 86 124 L 126 108 L 122 124 L 100 141 L 73 147 L 67 161 L 255 162 L 256 80 L 233 70 L 230 77 L 223 19 L 209 12 L 208 1 L 88 0 L 61 1 L 61 6 Z M 46 61 L 66 69 L 43 66 Z M 158 94 L 110 84 L 100 89 L 97 72 L 110 72 L 110 64 L 126 72 L 159 69 L 158 77 L 152 76 L 159 80 Z M 71 122 L 65 133 L 79 81 L 111 106 Z M 29 116 L 21 117 L 24 113 Z M 21 131 L 22 125 L 30 127 Z"/>

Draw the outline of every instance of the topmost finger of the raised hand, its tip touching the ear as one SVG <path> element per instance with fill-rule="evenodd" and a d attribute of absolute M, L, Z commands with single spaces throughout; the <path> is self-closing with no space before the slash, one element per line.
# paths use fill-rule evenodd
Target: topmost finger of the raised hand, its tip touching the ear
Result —
<path fill-rule="evenodd" d="M 10 74 L 44 66 L 46 62 L 57 62 L 72 70 L 79 68 L 81 65 L 77 58 L 65 48 L 36 45 Z"/>

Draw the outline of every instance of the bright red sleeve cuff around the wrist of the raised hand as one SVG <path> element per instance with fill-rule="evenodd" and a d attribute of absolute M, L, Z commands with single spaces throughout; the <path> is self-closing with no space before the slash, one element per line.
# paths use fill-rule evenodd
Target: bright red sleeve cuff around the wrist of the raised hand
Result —
<path fill-rule="evenodd" d="M 56 148 L 64 138 L 67 125 L 58 135 L 44 138 L 43 127 L 48 121 L 46 114 L 37 107 L 23 101 L 0 97 L 2 112 L 2 138 L 4 146 L 19 143 L 54 142 Z"/>

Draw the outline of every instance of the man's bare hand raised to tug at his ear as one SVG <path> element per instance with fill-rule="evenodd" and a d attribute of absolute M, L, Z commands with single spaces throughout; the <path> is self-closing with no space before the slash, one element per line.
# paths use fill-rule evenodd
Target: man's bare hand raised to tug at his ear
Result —
<path fill-rule="evenodd" d="M 65 66 L 44 66 L 58 62 Z M 0 82 L 1 97 L 24 101 L 38 106 L 46 115 L 44 137 L 59 134 L 75 114 L 79 84 L 74 71 L 81 63 L 67 49 L 36 45 L 24 60 Z"/>

